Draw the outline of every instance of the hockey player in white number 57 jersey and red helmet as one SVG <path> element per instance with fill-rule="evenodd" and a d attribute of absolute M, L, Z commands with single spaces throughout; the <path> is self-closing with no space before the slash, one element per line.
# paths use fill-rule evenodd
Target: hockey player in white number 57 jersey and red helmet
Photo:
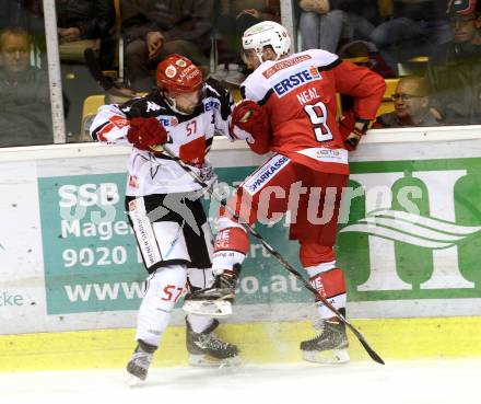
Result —
<path fill-rule="evenodd" d="M 126 209 L 149 273 L 139 309 L 138 345 L 127 370 L 144 380 L 185 286 L 189 292 L 212 285 L 212 241 L 200 203 L 200 186 L 162 145 L 206 182 L 215 174 L 206 159 L 214 131 L 228 136 L 233 101 L 215 81 L 202 79 L 187 58 L 171 55 L 156 71 L 157 90 L 124 105 L 104 105 L 91 127 L 103 143 L 132 145 Z M 215 334 L 209 316 L 188 314 L 186 345 L 190 365 L 236 362 L 235 345 Z"/>

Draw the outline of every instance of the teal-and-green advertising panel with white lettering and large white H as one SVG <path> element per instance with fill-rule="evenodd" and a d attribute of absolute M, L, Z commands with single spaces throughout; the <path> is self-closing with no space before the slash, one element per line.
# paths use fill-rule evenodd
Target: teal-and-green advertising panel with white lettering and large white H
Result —
<path fill-rule="evenodd" d="M 351 164 L 337 245 L 349 301 L 481 297 L 480 165 Z M 254 169 L 216 172 L 232 185 Z M 139 307 L 145 272 L 125 215 L 125 173 L 38 178 L 48 314 Z M 300 268 L 284 220 L 256 229 Z M 251 242 L 236 303 L 310 302 L 301 282 Z"/>

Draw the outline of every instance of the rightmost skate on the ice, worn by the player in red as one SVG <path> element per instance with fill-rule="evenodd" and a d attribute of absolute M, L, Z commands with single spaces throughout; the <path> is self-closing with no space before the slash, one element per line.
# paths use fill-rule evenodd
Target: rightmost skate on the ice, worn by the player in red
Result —
<path fill-rule="evenodd" d="M 317 363 L 349 362 L 349 342 L 343 323 L 322 322 L 322 332 L 313 339 L 303 340 L 303 359 Z"/>

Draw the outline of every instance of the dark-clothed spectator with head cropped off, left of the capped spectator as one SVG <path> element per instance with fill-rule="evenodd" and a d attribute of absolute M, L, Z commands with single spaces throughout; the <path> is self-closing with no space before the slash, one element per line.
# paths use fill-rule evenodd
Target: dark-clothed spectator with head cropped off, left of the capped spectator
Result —
<path fill-rule="evenodd" d="M 397 71 L 397 64 L 430 55 L 433 45 L 450 39 L 446 0 L 392 0 L 392 19 L 369 36 L 384 59 Z"/>

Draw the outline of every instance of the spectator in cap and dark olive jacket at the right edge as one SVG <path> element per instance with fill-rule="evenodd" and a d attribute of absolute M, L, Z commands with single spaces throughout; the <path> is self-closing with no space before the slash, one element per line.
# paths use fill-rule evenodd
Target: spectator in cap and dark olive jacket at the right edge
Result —
<path fill-rule="evenodd" d="M 449 1 L 454 39 L 438 46 L 427 64 L 433 107 L 446 124 L 481 124 L 480 12 L 476 0 Z"/>

